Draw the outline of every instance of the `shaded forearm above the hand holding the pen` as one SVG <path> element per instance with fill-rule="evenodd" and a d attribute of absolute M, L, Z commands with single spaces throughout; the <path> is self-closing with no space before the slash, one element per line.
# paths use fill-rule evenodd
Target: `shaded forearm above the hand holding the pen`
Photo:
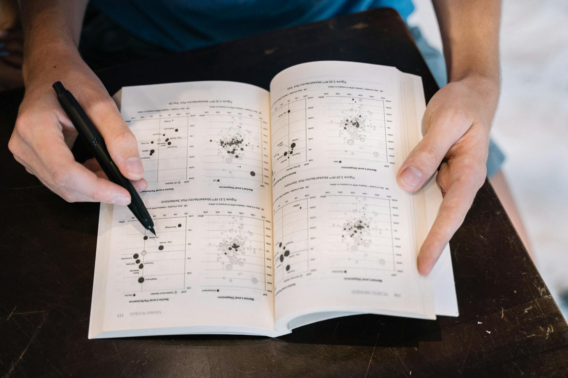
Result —
<path fill-rule="evenodd" d="M 57 70 L 62 56 L 77 52 L 88 0 L 21 0 L 24 32 L 24 81 Z"/>

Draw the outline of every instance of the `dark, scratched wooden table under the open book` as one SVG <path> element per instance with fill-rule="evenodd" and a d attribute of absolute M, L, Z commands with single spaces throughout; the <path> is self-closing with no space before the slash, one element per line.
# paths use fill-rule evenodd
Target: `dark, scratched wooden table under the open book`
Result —
<path fill-rule="evenodd" d="M 374 10 L 108 69 L 122 86 L 235 80 L 347 60 L 436 84 L 395 11 Z M 461 316 L 360 315 L 279 338 L 87 339 L 98 204 L 66 203 L 6 148 L 22 91 L 0 93 L 0 374 L 6 377 L 549 377 L 568 375 L 568 327 L 488 182 L 452 239 Z"/>

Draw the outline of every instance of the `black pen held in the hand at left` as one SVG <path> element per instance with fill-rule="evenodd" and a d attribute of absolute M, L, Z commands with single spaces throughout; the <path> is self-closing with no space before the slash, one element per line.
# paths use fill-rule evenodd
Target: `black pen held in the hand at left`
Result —
<path fill-rule="evenodd" d="M 144 202 L 142 202 L 138 192 L 136 192 L 136 189 L 132 186 L 132 182 L 120 173 L 120 170 L 112 161 L 110 154 L 108 154 L 105 141 L 101 137 L 101 134 L 99 134 L 97 128 L 93 125 L 93 122 L 89 120 L 89 117 L 87 117 L 81 105 L 79 105 L 71 92 L 65 89 L 61 82 L 54 83 L 53 89 L 57 92 L 57 100 L 59 100 L 61 107 L 77 129 L 79 135 L 81 135 L 89 151 L 91 151 L 99 165 L 101 165 L 108 180 L 122 186 L 130 193 L 131 202 L 130 205 L 128 205 L 128 209 L 132 211 L 132 214 L 136 216 L 136 219 L 139 220 L 145 229 L 156 235 L 154 222 L 152 222 L 152 218 L 146 206 L 144 206 Z"/>

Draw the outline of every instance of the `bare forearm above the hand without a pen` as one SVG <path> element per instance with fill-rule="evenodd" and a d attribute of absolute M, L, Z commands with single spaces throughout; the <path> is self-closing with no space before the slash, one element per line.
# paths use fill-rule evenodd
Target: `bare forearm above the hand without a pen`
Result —
<path fill-rule="evenodd" d="M 499 85 L 500 0 L 432 0 L 449 82 L 469 75 Z"/>

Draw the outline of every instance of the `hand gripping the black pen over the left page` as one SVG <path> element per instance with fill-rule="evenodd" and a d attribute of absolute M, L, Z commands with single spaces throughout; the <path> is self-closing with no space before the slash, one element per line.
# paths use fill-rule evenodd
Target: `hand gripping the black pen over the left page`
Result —
<path fill-rule="evenodd" d="M 24 63 L 26 95 L 8 143 L 14 158 L 66 201 L 128 205 L 128 191 L 108 181 L 94 159 L 83 164 L 74 160 L 70 148 L 77 131 L 52 88 L 57 81 L 72 92 L 97 126 L 120 172 L 136 190 L 147 188 L 136 138 L 101 81 L 73 49 L 46 52 L 41 62 Z"/>

